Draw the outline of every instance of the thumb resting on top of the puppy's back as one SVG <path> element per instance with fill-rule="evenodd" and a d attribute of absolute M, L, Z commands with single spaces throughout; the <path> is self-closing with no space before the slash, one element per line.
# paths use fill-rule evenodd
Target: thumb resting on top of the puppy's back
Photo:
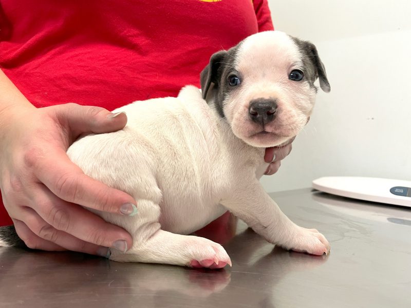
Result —
<path fill-rule="evenodd" d="M 55 109 L 58 120 L 69 128 L 74 138 L 83 133 L 104 133 L 122 129 L 127 123 L 124 112 L 111 113 L 107 109 L 78 104 L 64 104 Z"/>

